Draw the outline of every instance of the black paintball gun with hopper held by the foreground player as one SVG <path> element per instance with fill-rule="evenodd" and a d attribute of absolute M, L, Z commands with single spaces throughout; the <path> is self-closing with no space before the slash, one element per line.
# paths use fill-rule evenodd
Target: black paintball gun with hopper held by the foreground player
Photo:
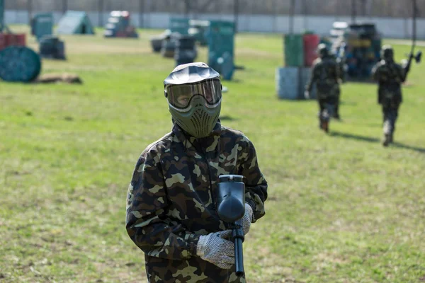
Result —
<path fill-rule="evenodd" d="M 232 229 L 232 241 L 234 243 L 234 262 L 236 275 L 244 275 L 244 254 L 242 242 L 244 230 L 242 229 L 242 217 L 245 213 L 245 184 L 242 175 L 220 175 L 217 195 L 218 216 Z"/>

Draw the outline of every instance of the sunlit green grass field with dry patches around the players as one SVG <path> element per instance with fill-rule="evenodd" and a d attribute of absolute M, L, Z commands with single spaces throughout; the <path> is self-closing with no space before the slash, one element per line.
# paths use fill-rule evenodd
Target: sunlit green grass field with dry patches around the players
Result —
<path fill-rule="evenodd" d="M 151 51 L 159 32 L 62 37 L 67 62 L 42 72 L 83 85 L 0 82 L 0 282 L 146 281 L 125 200 L 138 156 L 171 129 L 162 81 L 175 62 Z M 236 48 L 245 69 L 224 83 L 222 123 L 254 142 L 269 183 L 244 243 L 248 282 L 425 282 L 425 64 L 383 148 L 375 84 L 342 86 L 326 135 L 314 100 L 276 96 L 281 35 L 239 34 Z"/>

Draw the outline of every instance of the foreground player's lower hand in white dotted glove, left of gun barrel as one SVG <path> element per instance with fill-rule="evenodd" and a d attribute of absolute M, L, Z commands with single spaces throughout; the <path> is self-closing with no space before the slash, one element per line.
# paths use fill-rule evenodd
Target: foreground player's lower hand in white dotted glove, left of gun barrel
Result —
<path fill-rule="evenodd" d="M 231 235 L 232 230 L 226 230 L 200 236 L 196 254 L 203 260 L 228 270 L 234 265 L 234 243 L 225 238 Z"/>

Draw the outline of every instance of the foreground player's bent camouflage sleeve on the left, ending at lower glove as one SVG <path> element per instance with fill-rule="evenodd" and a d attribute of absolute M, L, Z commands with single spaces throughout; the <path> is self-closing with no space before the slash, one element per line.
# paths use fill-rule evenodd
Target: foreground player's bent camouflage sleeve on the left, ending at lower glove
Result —
<path fill-rule="evenodd" d="M 126 228 L 147 255 L 181 260 L 196 255 L 198 236 L 172 221 L 157 154 L 146 151 L 137 161 L 127 195 Z"/>

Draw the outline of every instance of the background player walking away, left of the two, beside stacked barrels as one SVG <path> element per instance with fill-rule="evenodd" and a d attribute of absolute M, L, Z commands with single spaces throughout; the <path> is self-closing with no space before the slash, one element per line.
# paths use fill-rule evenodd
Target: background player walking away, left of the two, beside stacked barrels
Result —
<path fill-rule="evenodd" d="M 339 97 L 339 64 L 329 54 L 326 45 L 317 47 L 319 58 L 314 60 L 312 75 L 307 83 L 305 96 L 310 97 L 313 84 L 316 83 L 317 102 L 319 103 L 319 128 L 329 132 L 329 120 L 334 115 L 334 110 Z"/>

